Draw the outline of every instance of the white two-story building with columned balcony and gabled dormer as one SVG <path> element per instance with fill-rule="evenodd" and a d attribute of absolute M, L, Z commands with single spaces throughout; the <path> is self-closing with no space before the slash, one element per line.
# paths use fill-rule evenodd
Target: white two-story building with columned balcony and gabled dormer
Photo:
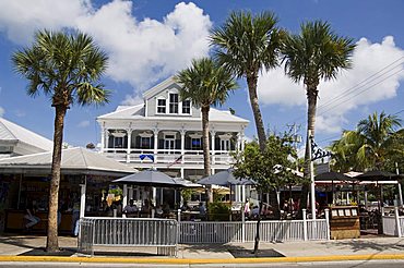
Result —
<path fill-rule="evenodd" d="M 143 94 L 138 106 L 119 106 L 100 115 L 102 154 L 136 169 L 155 168 L 173 176 L 197 180 L 203 174 L 202 117 L 181 100 L 173 77 Z M 248 120 L 211 108 L 212 173 L 234 163 L 231 151 L 243 148 Z"/>

